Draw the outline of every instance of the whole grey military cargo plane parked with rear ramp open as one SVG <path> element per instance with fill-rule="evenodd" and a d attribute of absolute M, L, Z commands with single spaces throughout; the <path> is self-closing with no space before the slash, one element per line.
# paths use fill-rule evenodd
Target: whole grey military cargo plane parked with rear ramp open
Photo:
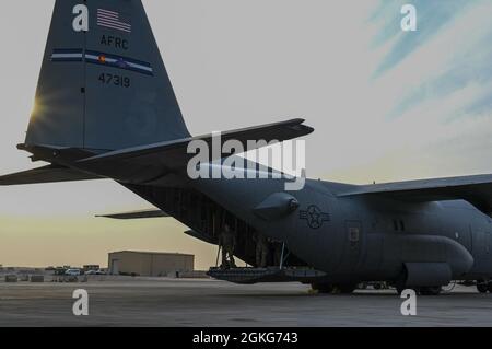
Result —
<path fill-rule="evenodd" d="M 285 141 L 312 131 L 292 119 L 227 131 L 223 141 Z M 58 0 L 36 107 L 17 146 L 49 165 L 0 184 L 109 178 L 156 208 L 112 218 L 171 216 L 215 245 L 229 224 L 234 255 L 250 267 L 212 268 L 219 279 L 301 281 L 343 293 L 386 281 L 421 294 L 459 280 L 492 291 L 492 175 L 377 185 L 307 179 L 286 191 L 285 178 L 190 179 L 194 140 L 211 143 L 212 135 L 188 132 L 141 1 Z M 271 249 L 261 268 L 257 234 Z"/>

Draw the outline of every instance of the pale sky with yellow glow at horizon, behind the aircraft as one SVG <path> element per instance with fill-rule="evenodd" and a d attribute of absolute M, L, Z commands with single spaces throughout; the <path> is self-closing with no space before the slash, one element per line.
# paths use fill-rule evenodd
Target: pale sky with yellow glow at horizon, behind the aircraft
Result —
<path fill-rule="evenodd" d="M 0 12 L 0 173 L 23 142 L 54 0 Z M 400 30 L 400 8 L 418 31 Z M 492 2 L 145 0 L 194 135 L 306 118 L 307 176 L 349 183 L 492 173 Z M 216 248 L 173 219 L 94 214 L 149 208 L 109 181 L 0 187 L 0 264 L 107 264 L 119 249 Z"/>

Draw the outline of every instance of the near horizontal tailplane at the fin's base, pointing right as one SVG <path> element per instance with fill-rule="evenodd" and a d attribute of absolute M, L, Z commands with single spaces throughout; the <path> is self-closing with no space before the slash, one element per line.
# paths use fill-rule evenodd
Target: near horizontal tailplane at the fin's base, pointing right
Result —
<path fill-rule="evenodd" d="M 313 128 L 302 125 L 304 119 L 292 119 L 283 123 L 269 124 L 263 126 L 244 128 L 221 133 L 222 142 L 227 140 L 238 140 L 244 149 L 247 149 L 248 140 L 272 140 L 284 141 L 308 135 L 314 131 Z M 82 159 L 79 162 L 85 165 L 107 164 L 108 162 L 127 161 L 133 165 L 163 165 L 167 168 L 186 167 L 189 159 L 195 154 L 188 154 L 188 144 L 194 140 L 202 140 L 212 144 L 212 135 L 200 137 L 184 138 L 168 142 L 155 143 L 150 146 L 136 147 L 130 149 L 107 152 L 101 155 Z M 221 144 L 222 146 L 222 144 Z M 213 154 L 211 154 L 212 160 Z M 223 158 L 223 154 L 220 155 Z M 219 159 L 220 159 L 219 158 Z"/>

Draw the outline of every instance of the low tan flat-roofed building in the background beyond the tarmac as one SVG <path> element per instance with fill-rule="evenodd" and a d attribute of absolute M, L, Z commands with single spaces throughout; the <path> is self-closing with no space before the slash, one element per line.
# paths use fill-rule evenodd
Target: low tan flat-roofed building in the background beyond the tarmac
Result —
<path fill-rule="evenodd" d="M 195 269 L 195 256 L 178 253 L 121 251 L 109 253 L 108 272 L 145 277 L 177 276 Z"/>

